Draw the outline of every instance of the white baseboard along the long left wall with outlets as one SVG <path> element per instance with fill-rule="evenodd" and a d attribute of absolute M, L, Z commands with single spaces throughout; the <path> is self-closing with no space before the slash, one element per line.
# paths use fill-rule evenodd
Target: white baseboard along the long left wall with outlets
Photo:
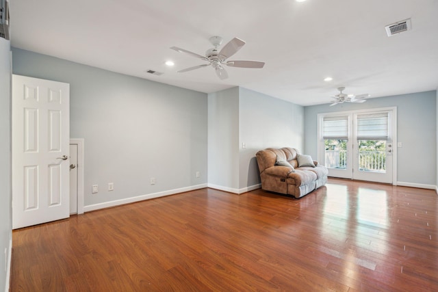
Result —
<path fill-rule="evenodd" d="M 181 189 L 171 189 L 169 191 L 160 191 L 159 193 L 154 193 L 154 194 L 147 194 L 147 195 L 142 195 L 142 196 L 125 198 L 125 199 L 114 200 L 114 201 L 110 201 L 110 202 L 103 202 L 103 203 L 99 203 L 99 204 L 91 204 L 88 206 L 84 206 L 83 211 L 90 212 L 90 211 L 95 211 L 95 210 L 99 210 L 99 209 L 116 207 L 116 206 L 120 206 L 123 204 L 130 204 L 133 202 L 140 202 L 140 201 L 149 200 L 149 199 L 153 199 L 153 198 L 175 195 L 175 194 L 183 193 L 185 191 L 194 191 L 195 189 L 203 189 L 205 187 L 207 187 L 207 184 L 192 185 L 191 187 L 182 187 Z"/>

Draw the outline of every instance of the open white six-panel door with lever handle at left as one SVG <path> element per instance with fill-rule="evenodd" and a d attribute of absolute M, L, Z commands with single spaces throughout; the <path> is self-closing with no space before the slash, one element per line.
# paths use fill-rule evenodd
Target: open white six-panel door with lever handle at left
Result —
<path fill-rule="evenodd" d="M 12 228 L 70 215 L 70 85 L 12 76 Z"/>

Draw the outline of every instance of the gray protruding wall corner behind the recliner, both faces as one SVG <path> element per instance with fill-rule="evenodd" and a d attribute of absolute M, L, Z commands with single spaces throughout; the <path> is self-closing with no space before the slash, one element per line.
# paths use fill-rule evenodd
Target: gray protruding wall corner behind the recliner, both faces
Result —
<path fill-rule="evenodd" d="M 209 94 L 208 122 L 208 182 L 227 191 L 258 187 L 258 150 L 304 147 L 304 108 L 245 88 Z"/>

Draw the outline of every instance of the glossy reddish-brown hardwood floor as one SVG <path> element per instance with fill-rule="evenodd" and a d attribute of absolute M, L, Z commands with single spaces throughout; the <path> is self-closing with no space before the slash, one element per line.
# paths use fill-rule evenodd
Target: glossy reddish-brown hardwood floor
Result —
<path fill-rule="evenodd" d="M 435 191 L 214 189 L 13 232 L 11 291 L 438 291 Z"/>

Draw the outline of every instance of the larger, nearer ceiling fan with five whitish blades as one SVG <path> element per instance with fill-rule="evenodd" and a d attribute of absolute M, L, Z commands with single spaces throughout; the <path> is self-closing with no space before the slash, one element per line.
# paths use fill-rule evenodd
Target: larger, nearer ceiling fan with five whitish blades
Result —
<path fill-rule="evenodd" d="M 240 38 L 233 38 L 233 40 L 230 40 L 227 44 L 225 44 L 220 51 L 218 51 L 218 47 L 220 47 L 220 44 L 222 44 L 222 38 L 220 36 L 212 36 L 211 38 L 209 38 L 209 41 L 211 42 L 211 44 L 213 44 L 214 48 L 207 50 L 205 52 L 205 56 L 198 55 L 197 53 L 193 53 L 191 51 L 187 51 L 178 47 L 171 47 L 170 49 L 172 50 L 180 53 L 186 53 L 188 55 L 191 55 L 192 57 L 196 57 L 198 59 L 202 59 L 203 61 L 208 62 L 208 64 L 185 68 L 177 72 L 188 72 L 211 65 L 214 70 L 216 70 L 216 75 L 218 75 L 218 77 L 223 80 L 228 78 L 228 73 L 224 69 L 223 65 L 239 68 L 263 68 L 263 66 L 265 65 L 265 62 L 259 61 L 227 61 L 229 57 L 237 53 L 237 51 L 242 49 L 242 47 L 244 46 L 245 42 L 243 40 L 240 40 Z"/>

